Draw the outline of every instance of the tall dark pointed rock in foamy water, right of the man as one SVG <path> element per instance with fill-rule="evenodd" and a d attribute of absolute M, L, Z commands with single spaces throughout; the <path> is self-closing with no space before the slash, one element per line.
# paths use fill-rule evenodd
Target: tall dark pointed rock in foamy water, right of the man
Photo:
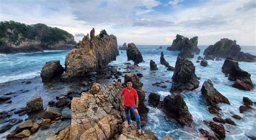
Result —
<path fill-rule="evenodd" d="M 172 76 L 171 93 L 181 93 L 183 90 L 198 88 L 199 81 L 195 74 L 193 62 L 178 56 Z"/>

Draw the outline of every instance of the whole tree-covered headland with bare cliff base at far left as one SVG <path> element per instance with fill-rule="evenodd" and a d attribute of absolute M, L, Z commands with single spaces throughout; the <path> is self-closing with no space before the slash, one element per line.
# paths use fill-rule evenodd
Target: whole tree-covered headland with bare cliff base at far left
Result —
<path fill-rule="evenodd" d="M 0 53 L 71 50 L 76 45 L 72 34 L 40 23 L 1 22 L 0 32 Z"/>

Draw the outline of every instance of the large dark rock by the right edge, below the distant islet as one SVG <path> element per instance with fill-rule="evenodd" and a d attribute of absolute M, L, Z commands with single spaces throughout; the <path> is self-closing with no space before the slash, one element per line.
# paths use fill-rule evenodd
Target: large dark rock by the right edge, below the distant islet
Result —
<path fill-rule="evenodd" d="M 251 80 L 251 74 L 243 71 L 239 67 L 238 61 L 227 57 L 222 66 L 222 71 L 228 75 L 228 80 L 235 81 L 232 85 L 233 87 L 242 90 L 252 90 L 254 88 Z"/>

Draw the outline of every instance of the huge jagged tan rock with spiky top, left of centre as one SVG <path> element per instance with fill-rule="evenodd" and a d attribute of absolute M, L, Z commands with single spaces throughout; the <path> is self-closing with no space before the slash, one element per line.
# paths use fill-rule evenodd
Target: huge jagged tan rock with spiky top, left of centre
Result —
<path fill-rule="evenodd" d="M 91 32 L 93 33 L 93 32 Z M 66 55 L 63 80 L 86 77 L 90 72 L 96 71 L 110 61 L 116 60 L 118 55 L 117 38 L 102 30 L 97 37 L 89 34 Z"/>

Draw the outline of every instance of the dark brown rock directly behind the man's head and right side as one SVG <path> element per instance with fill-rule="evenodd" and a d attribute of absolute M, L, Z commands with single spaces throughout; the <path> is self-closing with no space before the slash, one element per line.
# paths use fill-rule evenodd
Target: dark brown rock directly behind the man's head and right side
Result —
<path fill-rule="evenodd" d="M 132 75 L 132 73 L 125 74 L 124 83 L 126 83 L 126 80 L 130 78 L 132 79 L 132 87 L 136 89 L 138 93 L 138 97 L 139 97 L 138 111 L 140 115 L 140 124 L 144 126 L 147 121 L 147 113 L 149 112 L 149 109 L 145 106 L 145 103 L 144 103 L 146 94 L 144 90 L 142 90 L 143 83 L 139 81 L 139 78 L 137 75 L 135 74 Z M 134 116 L 131 115 L 131 117 L 133 118 Z"/>

